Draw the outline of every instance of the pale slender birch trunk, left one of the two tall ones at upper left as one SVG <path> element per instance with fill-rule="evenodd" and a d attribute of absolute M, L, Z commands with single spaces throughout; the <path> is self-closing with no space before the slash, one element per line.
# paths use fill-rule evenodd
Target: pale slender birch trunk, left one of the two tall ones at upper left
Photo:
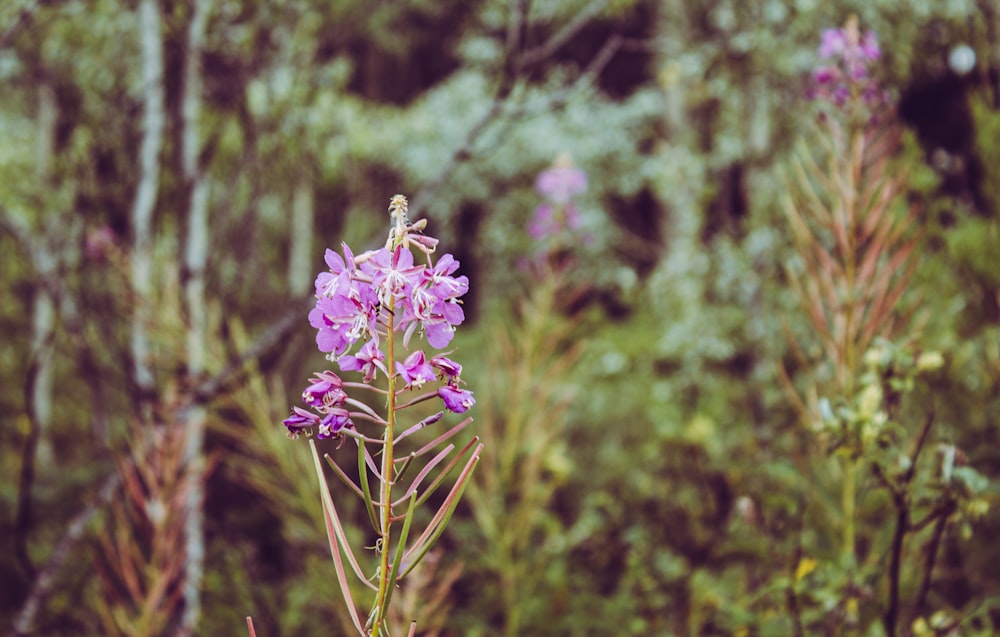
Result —
<path fill-rule="evenodd" d="M 133 238 L 131 266 L 135 309 L 132 314 L 132 375 L 138 396 L 138 411 L 150 421 L 150 399 L 155 395 L 155 378 L 150 360 L 149 335 L 153 316 L 150 294 L 153 289 L 153 208 L 160 185 L 160 150 L 163 146 L 164 112 L 163 35 L 156 0 L 139 3 L 139 40 L 142 47 L 143 126 L 139 147 L 139 184 L 132 207 Z"/>

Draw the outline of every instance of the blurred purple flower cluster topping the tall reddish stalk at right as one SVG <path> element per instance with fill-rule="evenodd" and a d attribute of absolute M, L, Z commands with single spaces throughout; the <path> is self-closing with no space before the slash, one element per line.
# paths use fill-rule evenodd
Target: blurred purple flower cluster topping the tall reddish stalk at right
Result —
<path fill-rule="evenodd" d="M 818 53 L 828 63 L 813 70 L 810 99 L 827 101 L 838 108 L 857 101 L 868 107 L 886 101 L 885 92 L 869 71 L 871 63 L 882 55 L 878 39 L 873 31 L 860 33 L 857 18 L 849 18 L 842 29 L 823 31 Z"/>

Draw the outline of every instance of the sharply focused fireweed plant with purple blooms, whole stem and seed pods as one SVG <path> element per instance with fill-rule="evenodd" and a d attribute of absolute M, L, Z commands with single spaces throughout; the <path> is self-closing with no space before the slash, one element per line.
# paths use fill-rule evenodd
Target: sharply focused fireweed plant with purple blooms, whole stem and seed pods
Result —
<path fill-rule="evenodd" d="M 357 482 L 329 456 L 326 460 L 364 501 L 375 534 L 376 565 L 371 574 L 362 570 L 348 543 L 315 441 L 310 440 L 344 603 L 358 634 L 373 637 L 388 635 L 388 609 L 397 583 L 440 537 L 483 448 L 476 437 L 457 452 L 450 442 L 471 418 L 429 442 L 413 443 L 414 434 L 441 421 L 446 413 L 465 413 L 475 404 L 472 392 L 463 387 L 462 366 L 448 357 L 450 352 L 434 351 L 447 348 L 462 324 L 460 299 L 469 281 L 454 276 L 459 263 L 452 255 L 432 258 L 438 241 L 423 234 L 426 220 L 410 223 L 405 197 L 392 198 L 389 214 L 391 227 L 383 248 L 355 255 L 345 244 L 343 255 L 326 251 L 329 270 L 316 277 L 316 307 L 309 313 L 319 350 L 337 363 L 341 373 L 360 376 L 360 381 L 330 370 L 316 373 L 302 392 L 305 406 L 293 407 L 283 423 L 292 438 L 336 439 L 357 447 Z M 384 400 L 384 410 L 360 400 L 364 393 Z M 427 404 L 438 409 L 404 424 L 404 415 Z M 404 451 L 404 441 L 413 448 Z M 450 492 L 417 534 L 413 524 L 418 507 L 460 465 Z M 373 602 L 365 620 L 352 597 L 344 557 L 371 590 Z M 414 623 L 410 634 L 415 630 Z"/>

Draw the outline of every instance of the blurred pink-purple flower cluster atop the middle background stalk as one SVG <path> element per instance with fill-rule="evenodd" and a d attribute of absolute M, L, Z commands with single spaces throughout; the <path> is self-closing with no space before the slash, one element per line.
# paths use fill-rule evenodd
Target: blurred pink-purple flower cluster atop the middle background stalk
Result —
<path fill-rule="evenodd" d="M 580 211 L 573 197 L 586 192 L 587 173 L 574 167 L 568 155 L 560 156 L 552 167 L 538 175 L 535 190 L 546 201 L 535 209 L 535 216 L 528 224 L 533 239 L 544 241 L 579 230 Z"/>

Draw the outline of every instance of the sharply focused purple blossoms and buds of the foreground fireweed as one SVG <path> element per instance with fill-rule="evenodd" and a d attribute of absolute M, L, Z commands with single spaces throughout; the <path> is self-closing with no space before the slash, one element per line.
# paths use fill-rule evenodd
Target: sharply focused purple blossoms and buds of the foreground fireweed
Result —
<path fill-rule="evenodd" d="M 454 276 L 459 262 L 452 255 L 444 254 L 432 262 L 437 240 L 419 233 L 423 222 L 407 222 L 405 198 L 394 197 L 390 211 L 395 225 L 386 247 L 357 256 L 347 244 L 342 244 L 343 256 L 326 251 L 329 270 L 316 277 L 316 306 L 309 312 L 309 323 L 316 328 L 316 345 L 328 359 L 337 361 L 342 372 L 360 372 L 367 384 L 378 372 L 401 380 L 401 390 L 420 389 L 424 383 L 443 380 L 432 397 L 440 398 L 450 411 L 464 412 L 475 399 L 472 392 L 461 389 L 462 366 L 458 363 L 443 355 L 428 359 L 416 350 L 405 360 L 395 361 L 393 369 L 386 366 L 384 345 L 396 332 L 404 347 L 415 333 L 422 334 L 435 349 L 447 347 L 455 327 L 465 320 L 459 299 L 469 290 L 466 276 Z M 411 248 L 426 257 L 426 262 L 416 263 Z M 358 342 L 362 344 L 355 350 Z M 303 393 L 304 402 L 316 413 L 293 408 L 284 420 L 289 434 L 294 437 L 316 428 L 318 438 L 328 438 L 344 427 L 353 427 L 351 416 L 357 413 L 345 407 L 350 401 L 342 387 L 343 382 L 333 372 L 318 373 Z M 366 417 L 372 419 L 372 414 L 366 412 Z"/>

